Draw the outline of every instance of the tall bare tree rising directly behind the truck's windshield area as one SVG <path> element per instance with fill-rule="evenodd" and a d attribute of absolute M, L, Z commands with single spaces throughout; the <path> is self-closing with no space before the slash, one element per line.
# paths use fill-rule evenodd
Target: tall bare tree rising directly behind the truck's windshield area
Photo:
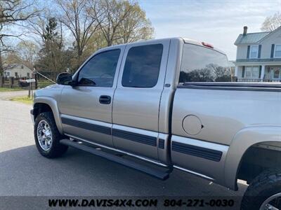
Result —
<path fill-rule="evenodd" d="M 63 25 L 74 36 L 78 58 L 77 64 L 80 64 L 81 55 L 86 45 L 98 28 L 96 18 L 89 17 L 87 13 L 88 3 L 94 6 L 96 2 L 94 0 L 56 0 L 56 2 L 62 10 L 60 22 L 63 22 Z M 97 17 L 99 17 L 98 14 Z"/>

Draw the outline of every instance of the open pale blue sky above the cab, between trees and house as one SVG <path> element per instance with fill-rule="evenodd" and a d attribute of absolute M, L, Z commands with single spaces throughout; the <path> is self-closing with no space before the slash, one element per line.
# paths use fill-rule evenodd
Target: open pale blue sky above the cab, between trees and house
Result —
<path fill-rule="evenodd" d="M 181 36 L 207 41 L 226 52 L 230 60 L 236 57 L 233 43 L 244 25 L 248 32 L 258 32 L 266 16 L 281 11 L 281 0 L 139 2 L 155 28 L 155 38 Z"/>

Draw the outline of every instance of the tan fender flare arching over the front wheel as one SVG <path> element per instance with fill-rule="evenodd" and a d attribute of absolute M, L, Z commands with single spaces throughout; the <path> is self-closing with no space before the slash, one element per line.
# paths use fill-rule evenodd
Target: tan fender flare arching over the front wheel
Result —
<path fill-rule="evenodd" d="M 53 118 L 55 118 L 55 125 L 58 127 L 60 134 L 63 134 L 63 127 L 60 120 L 60 112 L 58 110 L 58 104 L 55 99 L 51 97 L 36 97 L 33 105 L 34 120 L 37 115 L 44 111 L 51 111 Z"/>

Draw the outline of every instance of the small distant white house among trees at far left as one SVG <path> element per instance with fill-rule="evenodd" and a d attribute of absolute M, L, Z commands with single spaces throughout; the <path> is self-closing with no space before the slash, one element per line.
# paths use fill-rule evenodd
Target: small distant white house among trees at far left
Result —
<path fill-rule="evenodd" d="M 31 78 L 32 70 L 23 64 L 12 64 L 4 68 L 4 76 L 6 77 L 13 76 L 15 78 L 22 78 L 22 77 Z"/>

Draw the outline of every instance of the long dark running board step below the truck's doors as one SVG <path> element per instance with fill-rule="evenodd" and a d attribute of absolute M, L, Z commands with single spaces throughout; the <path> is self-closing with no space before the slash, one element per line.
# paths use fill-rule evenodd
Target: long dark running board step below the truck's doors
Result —
<path fill-rule="evenodd" d="M 70 141 L 69 139 L 62 139 L 62 140 L 60 140 L 60 144 L 65 144 L 67 146 L 72 146 L 74 148 L 78 148 L 81 151 L 86 151 L 86 152 L 91 153 L 93 155 L 98 155 L 98 156 L 100 156 L 102 158 L 105 158 L 107 160 L 111 160 L 113 162 L 117 162 L 120 165 L 124 165 L 126 167 L 130 167 L 132 169 L 136 169 L 136 170 L 138 170 L 140 172 L 143 172 L 145 174 L 149 174 L 150 176 L 154 176 L 157 179 L 166 180 L 166 179 L 169 178 L 170 170 L 168 170 L 167 172 L 162 172 L 160 170 L 153 169 L 153 168 L 147 167 L 145 165 L 141 165 L 138 162 L 133 162 L 131 160 L 126 160 L 126 159 L 121 158 L 121 157 L 119 157 L 117 155 L 112 155 L 110 153 L 106 153 L 104 151 L 97 150 L 96 148 L 92 148 L 92 147 L 89 147 L 89 146 L 86 146 L 86 145 L 83 145 L 83 144 L 79 144 L 79 143 L 77 143 L 75 141 Z"/>

